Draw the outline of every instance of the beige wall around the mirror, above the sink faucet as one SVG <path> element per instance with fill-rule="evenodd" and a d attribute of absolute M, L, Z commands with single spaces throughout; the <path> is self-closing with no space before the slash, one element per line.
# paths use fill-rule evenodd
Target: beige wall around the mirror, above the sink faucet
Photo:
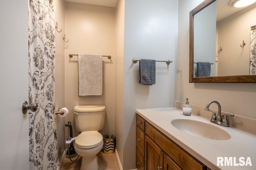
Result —
<path fill-rule="evenodd" d="M 256 119 L 254 110 L 256 88 L 249 83 L 189 83 L 189 12 L 203 0 L 179 0 L 178 8 L 178 75 L 176 99 L 206 106 L 217 100 L 222 111 Z M 213 109 L 218 109 L 212 105 Z"/>

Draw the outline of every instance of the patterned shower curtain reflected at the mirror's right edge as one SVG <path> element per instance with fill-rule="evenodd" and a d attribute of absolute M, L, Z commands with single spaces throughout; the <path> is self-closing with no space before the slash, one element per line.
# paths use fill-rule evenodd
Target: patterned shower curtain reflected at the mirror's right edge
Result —
<path fill-rule="evenodd" d="M 256 28 L 250 32 L 250 74 L 256 74 Z"/>

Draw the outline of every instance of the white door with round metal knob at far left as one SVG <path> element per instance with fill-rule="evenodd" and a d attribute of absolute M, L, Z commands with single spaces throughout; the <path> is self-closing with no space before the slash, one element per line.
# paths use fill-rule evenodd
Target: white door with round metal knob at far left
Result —
<path fill-rule="evenodd" d="M 0 5 L 0 170 L 29 170 L 28 1 Z"/>

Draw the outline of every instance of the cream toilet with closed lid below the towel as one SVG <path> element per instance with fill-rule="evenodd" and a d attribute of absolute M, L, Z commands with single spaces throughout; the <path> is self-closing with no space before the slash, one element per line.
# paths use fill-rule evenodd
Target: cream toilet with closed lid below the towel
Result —
<path fill-rule="evenodd" d="M 103 147 L 105 106 L 80 105 L 74 107 L 76 130 L 81 132 L 75 140 L 74 149 L 82 157 L 80 170 L 98 170 L 97 154 Z"/>

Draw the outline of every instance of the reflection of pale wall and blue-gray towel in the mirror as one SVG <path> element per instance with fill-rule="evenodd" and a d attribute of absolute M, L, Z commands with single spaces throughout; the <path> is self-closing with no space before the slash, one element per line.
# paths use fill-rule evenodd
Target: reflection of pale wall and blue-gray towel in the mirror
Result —
<path fill-rule="evenodd" d="M 215 51 L 216 1 L 194 15 L 195 77 L 215 76 Z M 204 62 L 208 62 L 208 64 Z"/>

